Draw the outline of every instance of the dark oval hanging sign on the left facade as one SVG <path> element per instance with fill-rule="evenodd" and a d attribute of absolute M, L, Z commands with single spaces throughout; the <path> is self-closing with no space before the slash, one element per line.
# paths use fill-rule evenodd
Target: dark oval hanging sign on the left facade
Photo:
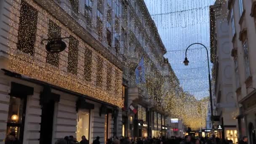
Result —
<path fill-rule="evenodd" d="M 64 51 L 66 49 L 67 45 L 62 40 L 52 40 L 45 45 L 46 51 L 50 53 L 59 53 L 61 51 Z"/>

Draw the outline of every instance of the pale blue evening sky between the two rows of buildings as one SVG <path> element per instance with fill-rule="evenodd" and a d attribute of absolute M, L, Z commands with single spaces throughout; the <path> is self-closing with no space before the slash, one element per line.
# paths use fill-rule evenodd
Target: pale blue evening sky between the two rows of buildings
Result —
<path fill-rule="evenodd" d="M 185 50 L 202 43 L 210 52 L 209 5 L 214 0 L 144 0 L 167 49 L 165 57 L 179 78 L 184 91 L 197 99 L 209 96 L 205 48 L 194 45 L 187 51 L 189 66 L 184 66 Z M 210 53 L 209 53 L 210 56 Z M 210 63 L 210 70 L 212 64 Z"/>

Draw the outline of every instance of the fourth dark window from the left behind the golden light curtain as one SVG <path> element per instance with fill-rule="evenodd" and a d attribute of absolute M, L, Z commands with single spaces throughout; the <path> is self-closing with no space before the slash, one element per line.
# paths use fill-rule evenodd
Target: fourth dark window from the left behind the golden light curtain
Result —
<path fill-rule="evenodd" d="M 89 48 L 85 48 L 84 78 L 86 81 L 91 81 L 91 61 L 92 51 Z"/>

